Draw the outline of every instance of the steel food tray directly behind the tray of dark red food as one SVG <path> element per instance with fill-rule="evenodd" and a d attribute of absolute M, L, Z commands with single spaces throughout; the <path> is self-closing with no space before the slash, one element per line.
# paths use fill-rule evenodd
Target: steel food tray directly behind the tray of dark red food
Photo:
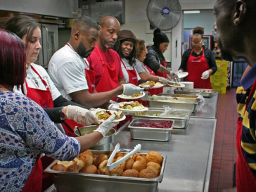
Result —
<path fill-rule="evenodd" d="M 166 116 L 153 116 L 154 114 L 164 113 L 164 108 L 148 108 L 149 110 L 143 113 L 131 113 L 133 119 L 138 118 L 154 118 L 158 120 L 174 120 L 173 128 L 176 129 L 184 129 L 188 127 L 188 120 L 191 117 L 191 110 L 180 110 L 179 113 L 177 111 L 171 111 Z"/>

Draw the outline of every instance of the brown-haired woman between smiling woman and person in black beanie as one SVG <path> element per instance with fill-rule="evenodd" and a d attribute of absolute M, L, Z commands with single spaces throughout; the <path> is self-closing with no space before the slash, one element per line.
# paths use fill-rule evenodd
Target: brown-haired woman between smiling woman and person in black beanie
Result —
<path fill-rule="evenodd" d="M 146 58 L 146 54 L 148 53 L 148 50 L 146 49 L 146 44 L 143 39 L 137 39 L 136 40 L 136 65 L 134 65 L 134 68 L 139 73 L 139 77 L 141 77 L 141 81 L 147 82 L 147 81 L 153 81 L 153 82 L 162 82 L 163 84 L 168 84 L 169 80 L 165 79 L 164 77 L 158 77 L 155 75 L 155 72 L 151 70 L 151 68 L 148 68 L 147 65 L 143 63 L 143 61 Z M 157 94 L 155 92 L 155 89 L 146 89 L 148 93 L 153 96 Z"/>

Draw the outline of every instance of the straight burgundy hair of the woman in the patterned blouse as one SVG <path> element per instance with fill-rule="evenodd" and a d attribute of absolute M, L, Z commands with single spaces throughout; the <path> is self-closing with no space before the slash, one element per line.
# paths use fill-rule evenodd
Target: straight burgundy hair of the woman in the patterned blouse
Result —
<path fill-rule="evenodd" d="M 0 29 L 0 83 L 14 87 L 26 77 L 26 53 L 23 41 L 13 32 Z"/>

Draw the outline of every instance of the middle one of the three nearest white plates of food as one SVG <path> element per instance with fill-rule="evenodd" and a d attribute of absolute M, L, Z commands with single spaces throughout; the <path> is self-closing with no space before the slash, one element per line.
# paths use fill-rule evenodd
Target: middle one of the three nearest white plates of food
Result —
<path fill-rule="evenodd" d="M 148 110 L 148 108 L 144 107 L 138 101 L 130 101 L 130 102 L 121 102 L 113 105 L 113 108 L 117 110 L 123 110 L 129 113 L 138 113 Z"/>

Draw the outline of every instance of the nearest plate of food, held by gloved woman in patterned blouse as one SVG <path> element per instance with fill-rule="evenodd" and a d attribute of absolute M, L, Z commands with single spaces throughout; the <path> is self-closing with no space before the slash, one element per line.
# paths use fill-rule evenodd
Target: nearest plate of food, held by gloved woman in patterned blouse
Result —
<path fill-rule="evenodd" d="M 115 120 L 113 120 L 113 122 L 120 122 L 122 120 L 125 120 L 125 115 L 122 112 L 122 110 L 93 110 L 91 111 L 91 113 L 93 113 L 100 122 L 104 122 L 105 120 L 108 120 L 108 117 L 110 117 L 110 115 L 115 114 Z"/>

